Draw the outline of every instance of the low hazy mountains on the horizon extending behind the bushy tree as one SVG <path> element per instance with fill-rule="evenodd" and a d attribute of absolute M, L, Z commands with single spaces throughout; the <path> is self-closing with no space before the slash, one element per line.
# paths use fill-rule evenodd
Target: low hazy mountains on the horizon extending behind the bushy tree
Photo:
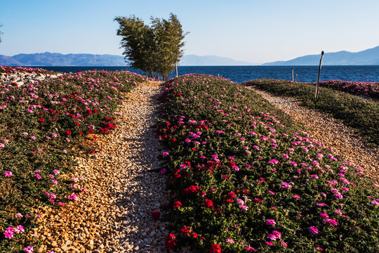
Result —
<path fill-rule="evenodd" d="M 0 65 L 11 66 L 126 66 L 124 56 L 94 55 L 90 53 L 20 53 L 15 56 L 1 56 Z M 183 56 L 179 65 L 252 65 L 244 61 L 220 56 Z"/>

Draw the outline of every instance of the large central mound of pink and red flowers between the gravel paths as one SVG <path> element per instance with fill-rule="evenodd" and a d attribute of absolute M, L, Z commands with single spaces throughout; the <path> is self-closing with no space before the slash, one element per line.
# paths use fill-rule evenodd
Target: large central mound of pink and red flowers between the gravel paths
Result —
<path fill-rule="evenodd" d="M 167 82 L 160 99 L 167 249 L 379 251 L 378 186 L 284 112 L 244 86 L 198 74 Z"/>

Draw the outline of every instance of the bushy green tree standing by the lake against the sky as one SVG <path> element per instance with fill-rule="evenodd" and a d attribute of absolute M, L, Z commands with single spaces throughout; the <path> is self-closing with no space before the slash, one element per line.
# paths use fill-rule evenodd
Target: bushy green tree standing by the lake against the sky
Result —
<path fill-rule="evenodd" d="M 151 26 L 134 15 L 114 20 L 119 22 L 117 35 L 122 37 L 120 44 L 131 67 L 142 70 L 147 77 L 168 80 L 185 45 L 178 17 L 170 13 L 168 20 L 151 18 Z"/>

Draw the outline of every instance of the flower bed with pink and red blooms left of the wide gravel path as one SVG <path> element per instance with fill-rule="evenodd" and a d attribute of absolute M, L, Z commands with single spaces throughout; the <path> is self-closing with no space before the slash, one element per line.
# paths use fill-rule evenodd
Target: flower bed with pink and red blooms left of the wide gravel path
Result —
<path fill-rule="evenodd" d="M 80 201 L 86 189 L 72 156 L 100 152 L 81 143 L 112 132 L 125 92 L 145 79 L 131 72 L 86 71 L 0 85 L 0 252 L 31 252 L 26 235 L 39 222 L 36 207 Z"/>

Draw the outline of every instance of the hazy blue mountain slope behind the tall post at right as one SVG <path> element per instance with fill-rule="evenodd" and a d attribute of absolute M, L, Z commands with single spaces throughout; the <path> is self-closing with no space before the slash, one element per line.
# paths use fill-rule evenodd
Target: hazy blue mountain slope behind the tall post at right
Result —
<path fill-rule="evenodd" d="M 301 56 L 292 60 L 276 61 L 263 65 L 319 65 L 321 52 L 317 55 Z M 379 65 L 379 46 L 357 53 L 339 51 L 324 53 L 322 65 Z"/>

